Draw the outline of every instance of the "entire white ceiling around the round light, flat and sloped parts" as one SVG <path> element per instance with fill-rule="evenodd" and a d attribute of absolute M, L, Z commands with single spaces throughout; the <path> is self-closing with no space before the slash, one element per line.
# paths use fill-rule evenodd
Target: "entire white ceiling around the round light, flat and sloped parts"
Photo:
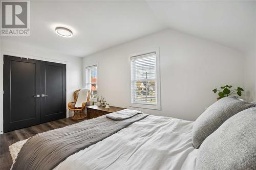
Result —
<path fill-rule="evenodd" d="M 3 36 L 84 57 L 164 29 L 248 51 L 255 48 L 254 1 L 31 1 L 31 36 Z M 55 34 L 72 29 L 72 38 Z"/>

